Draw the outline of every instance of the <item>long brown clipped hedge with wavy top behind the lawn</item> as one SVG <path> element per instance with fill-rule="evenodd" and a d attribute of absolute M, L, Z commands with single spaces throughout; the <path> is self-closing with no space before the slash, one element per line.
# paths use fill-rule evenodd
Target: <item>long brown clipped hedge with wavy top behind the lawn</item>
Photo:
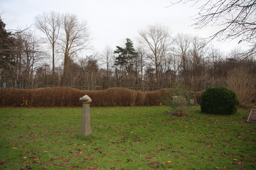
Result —
<path fill-rule="evenodd" d="M 151 92 L 127 88 L 109 88 L 101 91 L 78 90 L 69 87 L 38 89 L 0 89 L 0 106 L 14 107 L 77 107 L 83 95 L 92 99 L 91 106 L 157 106 L 166 94 L 163 89 Z"/>

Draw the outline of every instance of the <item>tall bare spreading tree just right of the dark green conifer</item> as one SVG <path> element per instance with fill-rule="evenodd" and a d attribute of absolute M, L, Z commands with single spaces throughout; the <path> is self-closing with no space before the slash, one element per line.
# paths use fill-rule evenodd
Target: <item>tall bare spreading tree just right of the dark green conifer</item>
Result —
<path fill-rule="evenodd" d="M 139 30 L 138 33 L 140 35 L 137 38 L 139 43 L 145 46 L 147 57 L 154 62 L 158 82 L 159 66 L 172 42 L 169 28 L 156 23 L 148 25 L 146 29 Z"/>

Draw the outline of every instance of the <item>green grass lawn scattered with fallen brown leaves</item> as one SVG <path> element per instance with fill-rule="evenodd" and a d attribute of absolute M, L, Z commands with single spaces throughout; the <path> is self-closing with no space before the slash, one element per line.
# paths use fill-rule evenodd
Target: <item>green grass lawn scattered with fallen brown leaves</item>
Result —
<path fill-rule="evenodd" d="M 0 169 L 256 167 L 249 110 L 220 116 L 192 107 L 184 118 L 164 106 L 90 109 L 93 135 L 82 137 L 82 108 L 0 108 Z"/>

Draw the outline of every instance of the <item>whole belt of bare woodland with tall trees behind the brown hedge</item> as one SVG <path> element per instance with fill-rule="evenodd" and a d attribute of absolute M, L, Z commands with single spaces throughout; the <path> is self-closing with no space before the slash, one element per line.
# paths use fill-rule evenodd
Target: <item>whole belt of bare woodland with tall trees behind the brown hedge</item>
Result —
<path fill-rule="evenodd" d="M 254 53 L 247 55 L 235 48 L 224 54 L 200 37 L 171 36 L 169 28 L 159 24 L 139 30 L 135 47 L 126 38 L 116 50 L 106 45 L 101 52 L 82 57 L 90 48 L 91 37 L 87 23 L 74 14 L 51 11 L 36 16 L 35 26 L 45 36 L 30 29 L 7 31 L 0 21 L 0 87 L 88 91 L 121 87 L 144 92 L 172 88 L 178 82 L 202 91 L 216 86 L 232 88 L 230 82 L 238 76 L 229 72 L 240 69 L 240 77 L 248 75 L 243 82 L 244 87 L 250 84 L 247 92 L 255 90 Z M 54 22 L 57 25 L 51 21 L 58 21 Z"/>

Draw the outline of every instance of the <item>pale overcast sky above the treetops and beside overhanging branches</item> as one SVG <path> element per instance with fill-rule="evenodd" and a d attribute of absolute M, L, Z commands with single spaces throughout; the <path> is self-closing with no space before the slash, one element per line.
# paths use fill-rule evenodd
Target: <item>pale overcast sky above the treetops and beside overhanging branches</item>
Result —
<path fill-rule="evenodd" d="M 6 29 L 26 28 L 34 22 L 34 17 L 51 10 L 60 13 L 74 13 L 80 19 L 87 20 L 94 40 L 92 44 L 101 51 L 106 44 L 115 50 L 122 46 L 125 38 L 136 45 L 138 30 L 148 24 L 161 23 L 168 26 L 172 35 L 177 33 L 208 37 L 217 28 L 207 27 L 197 31 L 189 27 L 198 10 L 190 4 L 170 6 L 177 0 L 1 0 L 0 13 L 6 23 Z M 214 46 L 228 52 L 238 46 L 239 40 L 214 42 Z M 242 44 L 239 44 L 242 45 Z"/>

